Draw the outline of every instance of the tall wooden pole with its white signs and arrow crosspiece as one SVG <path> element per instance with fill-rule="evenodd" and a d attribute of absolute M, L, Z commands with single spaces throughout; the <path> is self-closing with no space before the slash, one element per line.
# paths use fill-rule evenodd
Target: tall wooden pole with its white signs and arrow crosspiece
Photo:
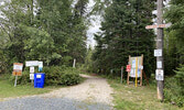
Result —
<path fill-rule="evenodd" d="M 163 0 L 158 0 L 158 24 L 156 25 L 148 25 L 145 29 L 156 29 L 156 50 L 154 51 L 154 56 L 156 56 L 156 73 L 155 73 L 155 78 L 158 80 L 158 99 L 163 101 L 163 80 L 164 78 L 164 68 L 163 68 L 163 28 L 169 28 L 171 26 L 170 24 L 163 24 Z M 159 75 L 159 76 L 158 76 Z"/>

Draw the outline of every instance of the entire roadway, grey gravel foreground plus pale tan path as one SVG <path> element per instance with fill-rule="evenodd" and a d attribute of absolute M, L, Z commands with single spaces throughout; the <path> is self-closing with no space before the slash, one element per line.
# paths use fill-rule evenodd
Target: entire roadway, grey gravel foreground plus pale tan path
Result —
<path fill-rule="evenodd" d="M 0 110 L 113 110 L 113 90 L 106 79 L 82 76 L 87 79 L 77 86 L 43 95 L 4 99 L 0 101 Z"/>

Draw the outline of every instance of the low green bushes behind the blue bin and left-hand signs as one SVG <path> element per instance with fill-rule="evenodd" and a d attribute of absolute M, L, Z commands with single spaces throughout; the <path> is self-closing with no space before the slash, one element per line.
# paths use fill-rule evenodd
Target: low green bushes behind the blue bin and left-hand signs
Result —
<path fill-rule="evenodd" d="M 82 81 L 82 77 L 79 76 L 78 70 L 65 66 L 44 67 L 43 73 L 45 73 L 45 86 L 72 86 Z M 14 76 L 11 76 L 10 80 L 14 82 Z M 18 85 L 25 85 L 31 82 L 29 68 L 22 73 L 21 77 L 18 77 L 17 82 Z"/>

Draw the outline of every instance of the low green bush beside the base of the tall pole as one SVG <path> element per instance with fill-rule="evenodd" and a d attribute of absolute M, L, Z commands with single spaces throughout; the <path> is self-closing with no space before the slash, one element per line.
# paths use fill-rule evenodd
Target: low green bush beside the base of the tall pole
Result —
<path fill-rule="evenodd" d="M 175 73 L 174 77 L 165 80 L 164 101 L 184 107 L 184 66 Z"/>

